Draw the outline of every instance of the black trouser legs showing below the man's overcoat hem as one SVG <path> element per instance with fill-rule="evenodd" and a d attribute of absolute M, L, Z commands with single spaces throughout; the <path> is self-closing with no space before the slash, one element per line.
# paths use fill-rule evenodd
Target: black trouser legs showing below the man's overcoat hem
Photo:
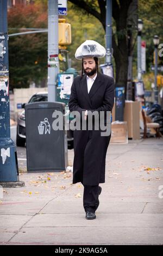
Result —
<path fill-rule="evenodd" d="M 83 206 L 85 212 L 96 211 L 96 204 L 98 202 L 98 196 L 99 196 L 99 186 L 84 186 L 84 194 L 83 194 Z"/>

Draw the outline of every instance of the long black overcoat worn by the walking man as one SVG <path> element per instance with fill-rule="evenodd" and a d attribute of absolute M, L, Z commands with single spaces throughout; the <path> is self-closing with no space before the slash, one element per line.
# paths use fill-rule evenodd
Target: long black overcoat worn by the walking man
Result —
<path fill-rule="evenodd" d="M 111 111 L 115 86 L 112 77 L 98 73 L 90 92 L 86 75 L 74 78 L 68 107 L 70 111 Z M 110 134 L 111 136 L 111 134 Z M 101 130 L 74 130 L 73 184 L 95 186 L 105 182 L 105 157 L 110 136 L 101 136 Z"/>

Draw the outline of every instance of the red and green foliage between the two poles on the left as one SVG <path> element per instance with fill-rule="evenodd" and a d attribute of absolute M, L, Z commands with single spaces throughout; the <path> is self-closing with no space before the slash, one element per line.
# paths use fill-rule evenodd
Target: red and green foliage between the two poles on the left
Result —
<path fill-rule="evenodd" d="M 47 10 L 39 4 L 16 5 L 8 12 L 9 34 L 25 32 L 19 28 L 47 28 Z M 16 29 L 15 29 L 16 28 Z M 47 33 L 9 37 L 10 88 L 40 84 L 47 77 Z"/>

